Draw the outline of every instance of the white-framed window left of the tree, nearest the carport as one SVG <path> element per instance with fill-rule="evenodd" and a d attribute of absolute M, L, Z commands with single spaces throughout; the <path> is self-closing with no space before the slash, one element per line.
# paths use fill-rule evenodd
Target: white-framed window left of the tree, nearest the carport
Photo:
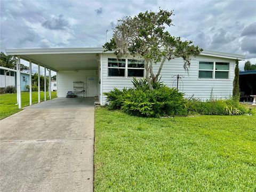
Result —
<path fill-rule="evenodd" d="M 144 77 L 145 61 L 140 59 L 108 58 L 109 77 Z"/>

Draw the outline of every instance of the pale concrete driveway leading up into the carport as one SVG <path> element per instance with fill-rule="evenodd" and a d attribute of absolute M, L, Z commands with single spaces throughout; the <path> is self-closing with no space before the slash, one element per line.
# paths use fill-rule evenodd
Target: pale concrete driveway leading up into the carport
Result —
<path fill-rule="evenodd" d="M 93 191 L 93 98 L 42 102 L 0 126 L 0 191 Z"/>

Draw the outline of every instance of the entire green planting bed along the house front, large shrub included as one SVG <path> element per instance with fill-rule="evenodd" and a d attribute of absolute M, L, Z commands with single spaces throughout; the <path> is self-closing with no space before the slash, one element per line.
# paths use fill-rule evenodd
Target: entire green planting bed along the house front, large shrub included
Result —
<path fill-rule="evenodd" d="M 150 90 L 146 79 L 132 81 L 134 87 L 103 93 L 107 96 L 108 108 L 122 109 L 125 113 L 143 117 L 201 115 L 242 115 L 249 110 L 232 99 L 208 101 L 198 99 L 186 100 L 184 94 L 177 89 L 167 87 L 162 82 L 153 84 Z"/>

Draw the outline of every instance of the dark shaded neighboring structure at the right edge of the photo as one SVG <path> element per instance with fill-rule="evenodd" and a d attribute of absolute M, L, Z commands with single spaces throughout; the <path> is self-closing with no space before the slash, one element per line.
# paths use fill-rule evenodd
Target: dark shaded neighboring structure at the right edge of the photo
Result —
<path fill-rule="evenodd" d="M 241 101 L 253 101 L 250 95 L 256 95 L 256 70 L 239 73 L 239 89 Z"/>

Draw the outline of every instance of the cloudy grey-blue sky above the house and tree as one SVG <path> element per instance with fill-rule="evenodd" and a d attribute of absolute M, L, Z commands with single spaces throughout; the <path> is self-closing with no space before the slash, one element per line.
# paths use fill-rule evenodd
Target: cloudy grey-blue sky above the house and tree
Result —
<path fill-rule="evenodd" d="M 100 47 L 106 30 L 111 38 L 117 19 L 161 7 L 174 10 L 174 26 L 167 28 L 171 35 L 205 50 L 244 54 L 256 63 L 256 1 L 0 1 L 3 52 Z M 239 62 L 241 70 L 244 62 Z"/>

